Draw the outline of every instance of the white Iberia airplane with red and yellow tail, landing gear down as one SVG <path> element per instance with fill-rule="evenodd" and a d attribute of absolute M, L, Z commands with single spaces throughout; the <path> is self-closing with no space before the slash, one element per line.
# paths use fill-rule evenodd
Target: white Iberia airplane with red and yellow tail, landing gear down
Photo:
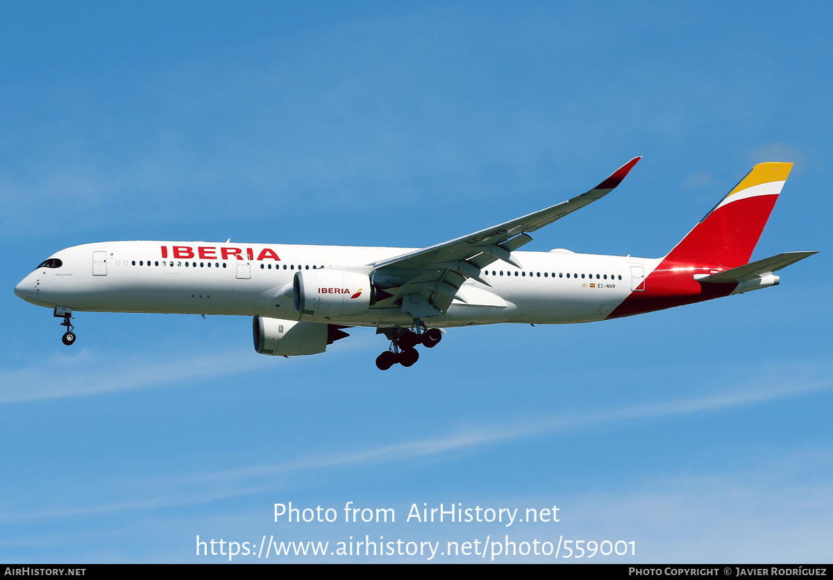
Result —
<path fill-rule="evenodd" d="M 375 327 L 377 368 L 410 367 L 446 328 L 611 320 L 778 285 L 776 271 L 816 251 L 750 262 L 792 163 L 761 163 L 661 258 L 518 251 L 531 233 L 600 200 L 641 157 L 556 206 L 426 248 L 111 241 L 43 260 L 14 293 L 72 313 L 252 316 L 255 350 L 318 354 L 344 329 Z"/>

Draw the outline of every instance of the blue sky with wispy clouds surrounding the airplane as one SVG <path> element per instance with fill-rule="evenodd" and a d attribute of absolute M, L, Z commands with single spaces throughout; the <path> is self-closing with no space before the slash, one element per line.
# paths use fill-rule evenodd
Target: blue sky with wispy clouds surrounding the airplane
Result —
<path fill-rule="evenodd" d="M 197 534 L 509 534 L 636 542 L 606 562 L 830 562 L 830 17 L 822 2 L 3 2 L 0 560 L 224 561 L 196 558 Z M 387 373 L 370 330 L 271 359 L 247 318 L 79 313 L 67 348 L 12 294 L 99 240 L 432 245 L 636 155 L 611 196 L 528 247 L 664 255 L 752 165 L 794 161 L 753 257 L 821 253 L 701 305 L 450 330 Z M 397 522 L 275 523 L 290 501 Z M 557 504 L 561 521 L 406 523 L 412 503 Z"/>

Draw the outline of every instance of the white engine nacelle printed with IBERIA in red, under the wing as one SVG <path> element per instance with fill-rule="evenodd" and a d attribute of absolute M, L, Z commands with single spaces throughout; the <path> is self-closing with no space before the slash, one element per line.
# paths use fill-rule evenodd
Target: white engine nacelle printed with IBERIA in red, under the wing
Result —
<path fill-rule="evenodd" d="M 376 302 L 376 289 L 364 274 L 345 270 L 304 270 L 292 280 L 295 310 L 302 315 L 363 315 Z"/>

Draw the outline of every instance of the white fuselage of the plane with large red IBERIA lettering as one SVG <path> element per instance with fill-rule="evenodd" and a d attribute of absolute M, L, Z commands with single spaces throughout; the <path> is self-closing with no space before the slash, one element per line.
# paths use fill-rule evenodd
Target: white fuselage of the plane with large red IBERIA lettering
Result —
<path fill-rule="evenodd" d="M 365 265 L 412 251 L 335 245 L 115 241 L 77 245 L 52 255 L 15 293 L 33 304 L 76 311 L 261 315 L 352 326 L 411 325 L 398 305 L 372 307 L 337 320 L 301 315 L 292 297 L 298 270 L 370 272 Z M 513 253 L 523 266 L 498 260 L 482 270 L 491 284 L 468 280 L 451 307 L 429 326 L 494 323 L 565 324 L 604 320 L 631 294 L 632 275 L 661 260 L 575 254 Z M 568 277 L 569 275 L 569 277 Z"/>

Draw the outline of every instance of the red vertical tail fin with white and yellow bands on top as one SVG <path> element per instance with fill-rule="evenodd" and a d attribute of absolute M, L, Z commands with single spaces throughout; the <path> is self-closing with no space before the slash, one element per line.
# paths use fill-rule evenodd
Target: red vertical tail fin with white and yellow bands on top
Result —
<path fill-rule="evenodd" d="M 792 163 L 759 163 L 666 256 L 736 268 L 749 262 Z"/>

